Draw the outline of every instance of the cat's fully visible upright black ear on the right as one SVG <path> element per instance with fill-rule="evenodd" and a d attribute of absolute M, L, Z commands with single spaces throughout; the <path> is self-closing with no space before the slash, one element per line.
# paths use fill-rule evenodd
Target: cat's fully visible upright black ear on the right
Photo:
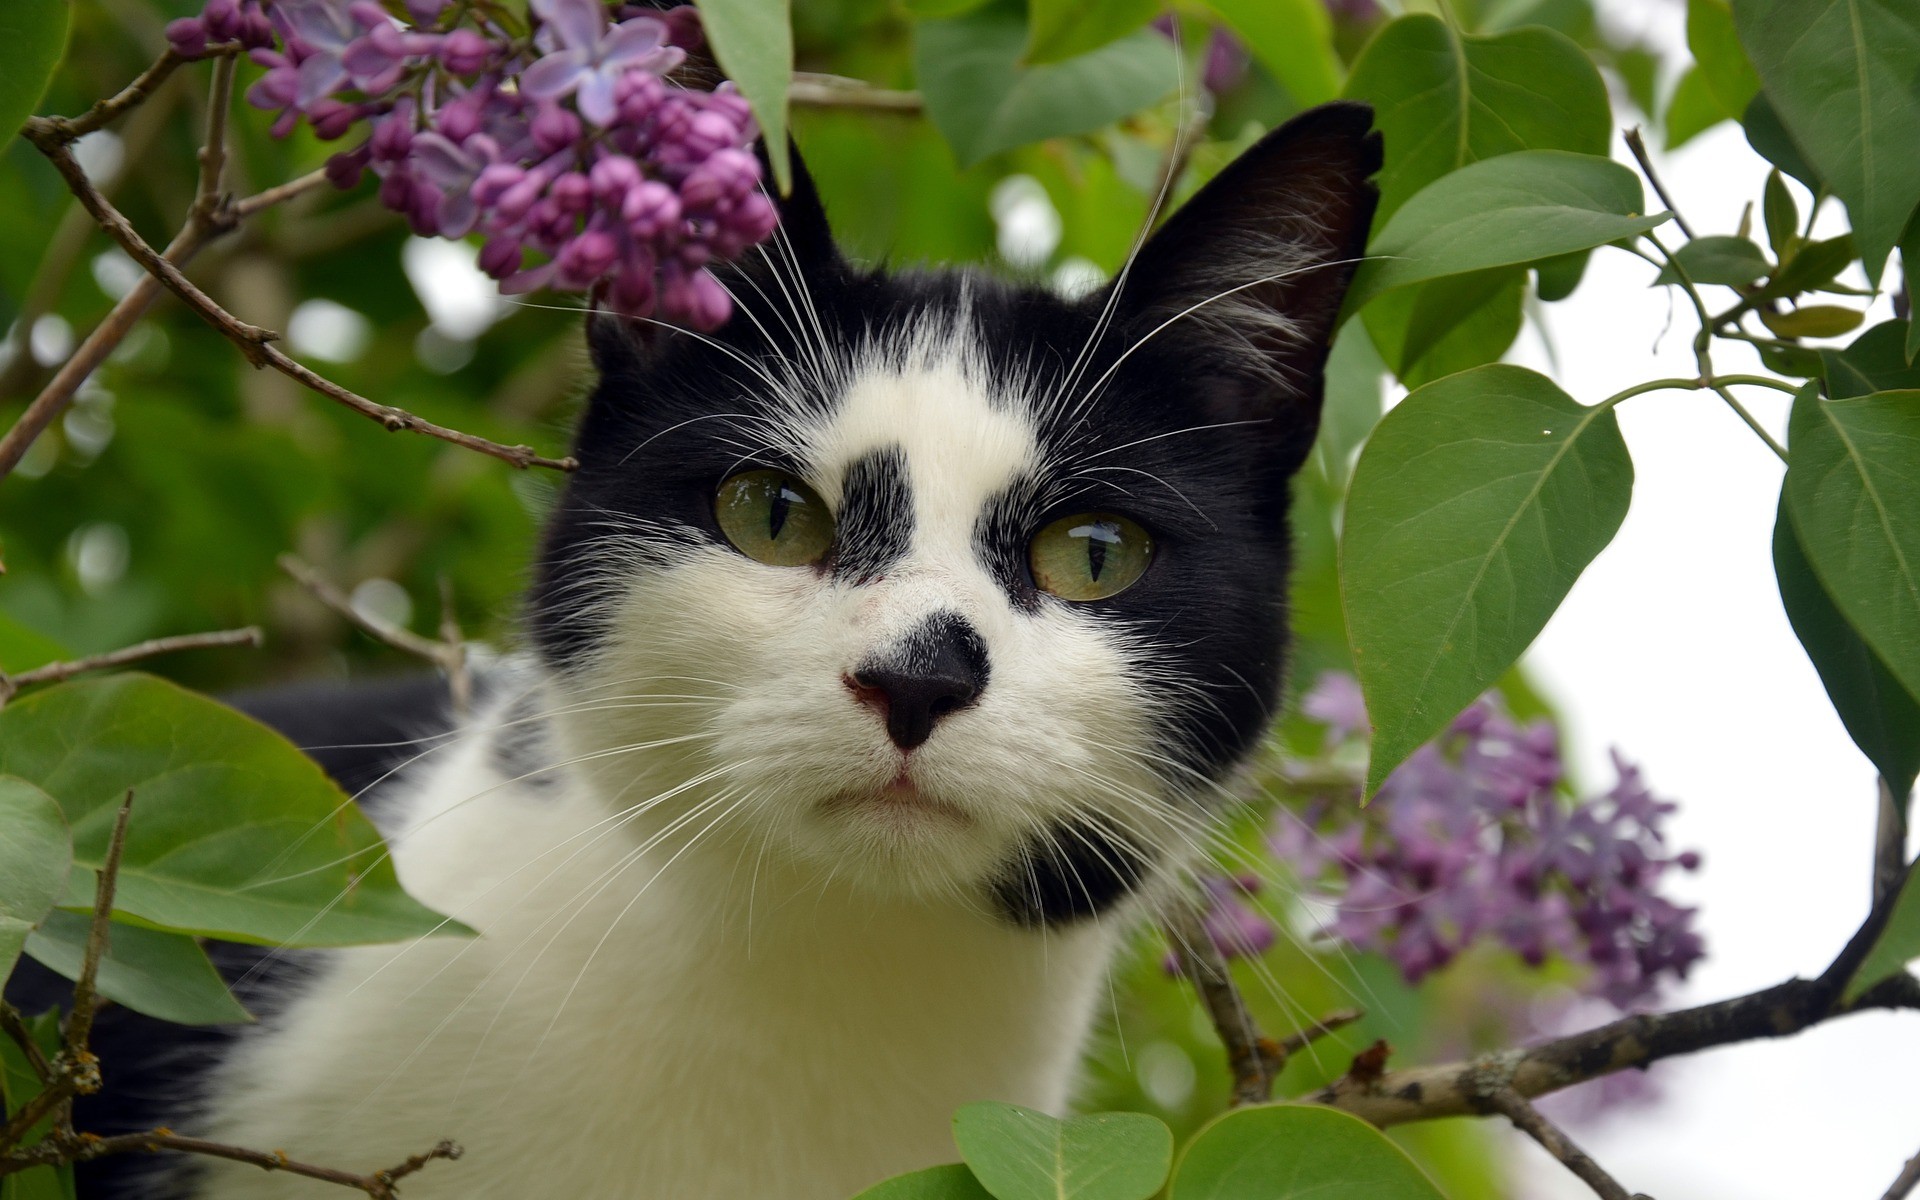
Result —
<path fill-rule="evenodd" d="M 1319 428 L 1327 349 L 1367 248 L 1379 169 L 1369 106 L 1308 109 L 1181 205 L 1119 282 L 1133 336 L 1185 326 L 1181 344 L 1229 376 L 1221 419 L 1275 434 L 1284 470 L 1306 461 Z"/>

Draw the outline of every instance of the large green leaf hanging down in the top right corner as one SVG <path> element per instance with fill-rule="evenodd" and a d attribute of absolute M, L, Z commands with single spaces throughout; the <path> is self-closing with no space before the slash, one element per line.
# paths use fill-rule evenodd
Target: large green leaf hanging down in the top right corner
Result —
<path fill-rule="evenodd" d="M 1878 286 L 1920 204 L 1920 6 L 1738 0 L 1734 23 L 1793 144 L 1845 202 Z"/>

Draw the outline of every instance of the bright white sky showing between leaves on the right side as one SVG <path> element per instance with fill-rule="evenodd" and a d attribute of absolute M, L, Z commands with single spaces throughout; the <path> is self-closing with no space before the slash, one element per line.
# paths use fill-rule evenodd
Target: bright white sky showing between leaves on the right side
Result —
<path fill-rule="evenodd" d="M 1680 4 L 1599 8 L 1661 46 L 1684 46 Z M 1622 144 L 1615 156 L 1630 161 Z M 1766 175 L 1734 125 L 1657 165 L 1703 234 L 1734 232 Z M 1647 290 L 1651 275 L 1626 253 L 1599 252 L 1580 290 L 1546 307 L 1557 363 L 1532 330 L 1509 359 L 1584 403 L 1693 374 L 1692 309 L 1682 298 L 1661 336 L 1667 303 Z M 1889 315 L 1882 300 L 1870 323 Z M 1715 365 L 1757 369 L 1732 346 L 1715 349 Z M 1788 397 L 1740 392 L 1784 440 Z M 1676 891 L 1701 906 L 1709 958 L 1672 1002 L 1695 1004 L 1812 975 L 1853 933 L 1868 900 L 1874 772 L 1780 607 L 1770 551 L 1780 461 L 1716 397 L 1657 392 L 1619 415 L 1638 476 L 1632 511 L 1526 664 L 1567 718 L 1582 780 L 1611 781 L 1607 747 L 1617 745 L 1682 804 L 1676 845 L 1699 847 L 1707 862 Z M 1603 1117 L 1578 1137 L 1628 1190 L 1659 1200 L 1874 1200 L 1920 1152 L 1912 1014 L 1847 1018 L 1657 1075 L 1657 1108 Z M 1523 1156 L 1528 1200 L 1592 1196 L 1530 1142 Z"/>

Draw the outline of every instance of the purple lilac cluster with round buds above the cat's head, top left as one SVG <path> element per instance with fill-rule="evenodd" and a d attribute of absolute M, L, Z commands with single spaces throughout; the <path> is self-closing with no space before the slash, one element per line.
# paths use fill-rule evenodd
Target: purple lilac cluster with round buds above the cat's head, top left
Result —
<path fill-rule="evenodd" d="M 708 265 L 766 240 L 747 102 L 666 83 L 699 46 L 691 8 L 532 0 L 520 36 L 495 6 L 207 0 L 167 27 L 194 58 L 240 42 L 265 75 L 248 102 L 284 136 L 363 132 L 326 171 L 365 173 L 420 236 L 486 238 L 501 292 L 588 292 L 634 317 L 714 328 L 732 313 Z"/>

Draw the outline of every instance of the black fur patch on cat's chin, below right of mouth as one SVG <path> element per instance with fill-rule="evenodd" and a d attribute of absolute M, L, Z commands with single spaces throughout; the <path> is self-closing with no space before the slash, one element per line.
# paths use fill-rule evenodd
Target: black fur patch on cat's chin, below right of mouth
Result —
<path fill-rule="evenodd" d="M 1000 914 L 1027 929 L 1098 916 L 1146 877 L 1146 856 L 1092 822 L 1060 822 L 1037 835 L 993 883 Z"/>

